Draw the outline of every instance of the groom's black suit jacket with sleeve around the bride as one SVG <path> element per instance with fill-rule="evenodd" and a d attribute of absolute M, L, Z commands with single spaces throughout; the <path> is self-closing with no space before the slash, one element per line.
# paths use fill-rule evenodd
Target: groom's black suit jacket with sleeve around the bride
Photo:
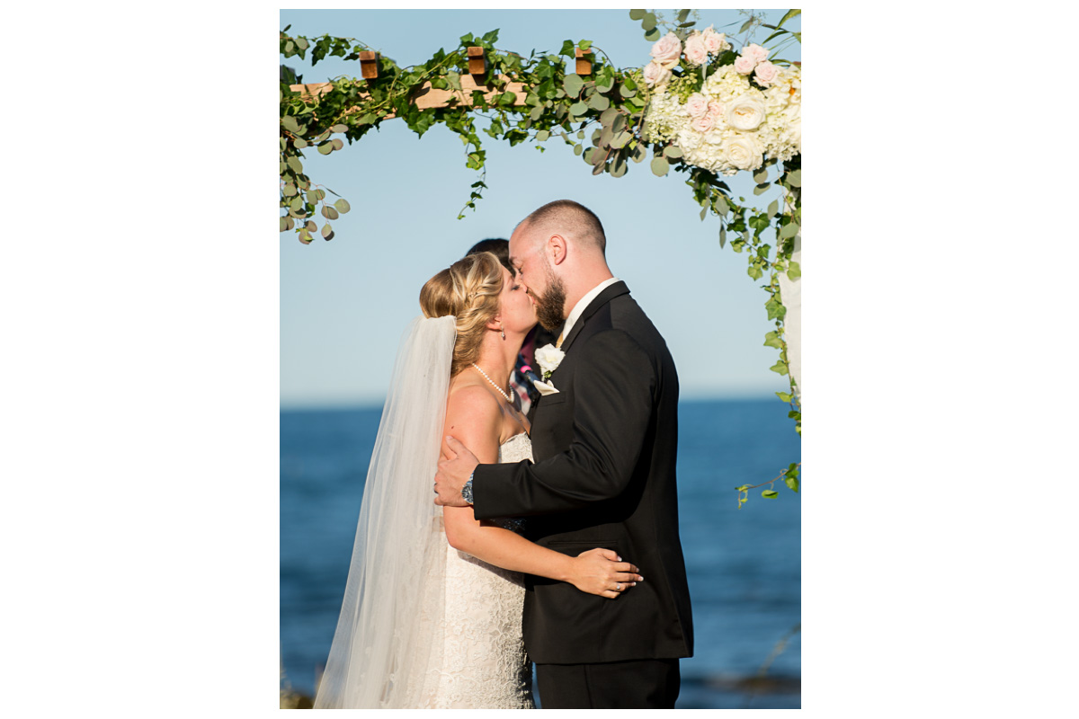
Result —
<path fill-rule="evenodd" d="M 562 343 L 532 423 L 535 464 L 480 465 L 477 518 L 525 516 L 527 535 L 576 556 L 596 547 L 640 568 L 617 599 L 527 577 L 524 646 L 540 664 L 689 656 L 693 620 L 678 534 L 678 373 L 629 296 L 605 288 Z"/>

